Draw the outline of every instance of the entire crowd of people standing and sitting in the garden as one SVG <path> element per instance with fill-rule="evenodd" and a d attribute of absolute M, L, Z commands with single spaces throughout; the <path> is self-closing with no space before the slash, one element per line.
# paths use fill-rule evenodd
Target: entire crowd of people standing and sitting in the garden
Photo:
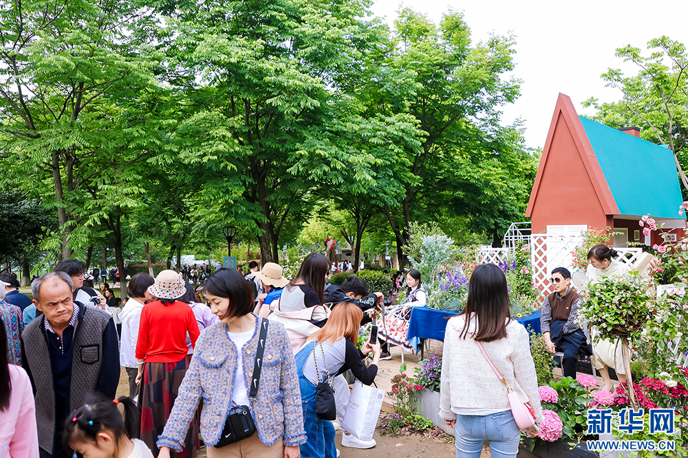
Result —
<path fill-rule="evenodd" d="M 624 275 L 607 247 L 591 250 L 590 261 L 591 281 Z M 119 330 L 114 295 L 105 282 L 103 294 L 92 288 L 83 262 L 61 261 L 34 279 L 32 299 L 12 275 L 0 276 L 0 457 L 195 457 L 206 446 L 208 457 L 336 458 L 336 424 L 318 410 L 319 386 L 334 388 L 341 423 L 345 372 L 371 385 L 389 345 L 413 347 L 410 311 L 428 299 L 420 272 L 405 275 L 405 301 L 386 308 L 383 293 L 356 275 L 330 284 L 332 263 L 318 253 L 291 281 L 279 264 L 249 269 L 219 268 L 198 290 L 187 281 L 194 268 L 190 277 L 133 275 Z M 554 269 L 551 281 L 541 328 L 550 350 L 563 352 L 564 375 L 575 376 L 579 354 L 619 371 L 613 343 L 592 348 L 574 319 L 581 297 L 568 270 Z M 459 458 L 479 457 L 485 440 L 493 456 L 516 456 L 521 431 L 508 389 L 533 409 L 528 434 L 539 433 L 528 332 L 509 306 L 503 271 L 482 264 L 464 310 L 447 323 L 440 415 L 455 429 Z M 372 321 L 378 341 L 357 347 Z M 116 398 L 120 367 L 129 396 Z M 343 431 L 342 445 L 376 443 Z"/>

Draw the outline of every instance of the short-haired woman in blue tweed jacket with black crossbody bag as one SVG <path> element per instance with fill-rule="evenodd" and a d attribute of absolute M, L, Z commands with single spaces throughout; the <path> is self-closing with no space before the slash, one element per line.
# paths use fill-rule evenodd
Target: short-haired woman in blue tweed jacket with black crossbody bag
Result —
<path fill-rule="evenodd" d="M 158 438 L 158 456 L 167 458 L 171 449 L 182 450 L 186 430 L 202 399 L 200 427 L 208 458 L 298 458 L 299 445 L 306 441 L 299 375 L 289 338 L 279 323 L 268 326 L 258 394 L 252 403 L 257 434 L 222 448 L 214 446 L 230 406 L 251 405 L 248 385 L 262 319 L 251 313 L 250 286 L 233 269 L 220 269 L 208 279 L 206 300 L 220 321 L 206 328 L 196 342 L 178 398 Z"/>

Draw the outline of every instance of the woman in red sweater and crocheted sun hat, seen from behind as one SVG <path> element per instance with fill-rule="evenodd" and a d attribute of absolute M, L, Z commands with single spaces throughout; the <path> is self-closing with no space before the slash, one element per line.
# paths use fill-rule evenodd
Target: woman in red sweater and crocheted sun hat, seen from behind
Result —
<path fill-rule="evenodd" d="M 141 439 L 158 456 L 158 436 L 169 418 L 189 360 L 186 334 L 191 346 L 198 339 L 198 325 L 189 304 L 178 299 L 186 293 L 184 279 L 175 271 L 162 271 L 148 288 L 158 298 L 141 312 L 136 343 L 136 361 L 140 384 L 138 406 L 141 412 Z M 194 458 L 198 449 L 198 425 L 191 423 L 178 457 Z"/>

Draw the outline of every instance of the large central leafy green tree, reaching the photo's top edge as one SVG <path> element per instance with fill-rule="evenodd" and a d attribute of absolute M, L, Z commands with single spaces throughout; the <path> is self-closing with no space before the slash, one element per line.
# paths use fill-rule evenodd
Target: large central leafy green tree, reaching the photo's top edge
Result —
<path fill-rule="evenodd" d="M 167 11 L 169 67 L 182 67 L 167 77 L 199 94 L 182 123 L 193 132 L 186 160 L 204 164 L 208 201 L 255 233 L 263 262 L 278 260 L 286 225 L 310 214 L 319 186 L 342 175 L 372 184 L 376 158 L 347 139 L 391 147 L 393 131 L 409 128 L 403 116 L 362 115 L 348 92 L 383 30 L 361 19 L 365 5 L 213 1 Z"/>

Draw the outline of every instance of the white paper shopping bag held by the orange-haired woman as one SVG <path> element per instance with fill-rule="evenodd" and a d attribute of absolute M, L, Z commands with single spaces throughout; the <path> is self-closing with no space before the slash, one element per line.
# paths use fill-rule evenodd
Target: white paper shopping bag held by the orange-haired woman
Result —
<path fill-rule="evenodd" d="M 384 390 L 363 385 L 356 380 L 344 414 L 342 429 L 363 441 L 372 439 L 384 399 Z"/>

